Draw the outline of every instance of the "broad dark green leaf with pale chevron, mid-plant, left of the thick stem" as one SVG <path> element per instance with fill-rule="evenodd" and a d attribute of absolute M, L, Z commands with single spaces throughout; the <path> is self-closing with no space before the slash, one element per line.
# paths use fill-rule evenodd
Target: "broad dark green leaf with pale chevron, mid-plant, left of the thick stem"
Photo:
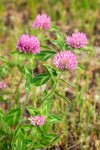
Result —
<path fill-rule="evenodd" d="M 47 73 L 41 73 L 38 74 L 37 76 L 35 76 L 32 80 L 32 84 L 34 86 L 41 86 L 43 84 L 45 84 L 49 79 L 50 79 L 50 75 Z"/>

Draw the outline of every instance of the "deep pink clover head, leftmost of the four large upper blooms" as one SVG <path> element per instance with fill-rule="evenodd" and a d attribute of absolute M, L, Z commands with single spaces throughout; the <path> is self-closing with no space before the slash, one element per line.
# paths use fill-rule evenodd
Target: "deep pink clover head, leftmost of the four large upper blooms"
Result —
<path fill-rule="evenodd" d="M 35 36 L 29 37 L 28 34 L 23 34 L 16 45 L 17 49 L 23 53 L 36 54 L 40 52 L 40 42 Z"/>

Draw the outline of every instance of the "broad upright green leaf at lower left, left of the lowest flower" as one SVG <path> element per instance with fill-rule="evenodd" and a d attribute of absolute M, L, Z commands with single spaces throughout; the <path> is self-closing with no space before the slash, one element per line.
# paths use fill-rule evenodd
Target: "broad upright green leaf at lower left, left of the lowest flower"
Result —
<path fill-rule="evenodd" d="M 8 125 L 16 125 L 19 122 L 21 109 L 17 108 L 8 112 L 6 116 L 6 123 Z"/>

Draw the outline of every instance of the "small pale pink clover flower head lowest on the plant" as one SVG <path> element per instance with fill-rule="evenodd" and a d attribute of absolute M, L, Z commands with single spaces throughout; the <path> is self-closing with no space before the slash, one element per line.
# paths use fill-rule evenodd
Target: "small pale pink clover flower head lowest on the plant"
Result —
<path fill-rule="evenodd" d="M 30 120 L 34 126 L 42 126 L 45 123 L 45 116 L 28 117 L 28 120 Z"/>

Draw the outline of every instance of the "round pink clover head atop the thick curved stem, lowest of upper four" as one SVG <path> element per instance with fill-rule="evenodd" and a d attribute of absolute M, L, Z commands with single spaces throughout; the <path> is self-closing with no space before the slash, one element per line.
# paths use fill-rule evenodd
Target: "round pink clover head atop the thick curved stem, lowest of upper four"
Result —
<path fill-rule="evenodd" d="M 70 51 L 58 52 L 54 57 L 54 65 L 60 70 L 75 70 L 77 67 L 76 56 Z"/>

